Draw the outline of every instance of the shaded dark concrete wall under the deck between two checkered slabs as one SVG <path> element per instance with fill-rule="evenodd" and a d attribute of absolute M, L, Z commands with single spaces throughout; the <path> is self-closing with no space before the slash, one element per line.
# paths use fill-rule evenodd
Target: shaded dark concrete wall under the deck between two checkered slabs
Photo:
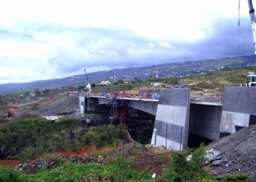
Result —
<path fill-rule="evenodd" d="M 220 136 L 220 119 L 216 119 L 216 106 L 191 104 L 189 134 L 216 140 Z"/>

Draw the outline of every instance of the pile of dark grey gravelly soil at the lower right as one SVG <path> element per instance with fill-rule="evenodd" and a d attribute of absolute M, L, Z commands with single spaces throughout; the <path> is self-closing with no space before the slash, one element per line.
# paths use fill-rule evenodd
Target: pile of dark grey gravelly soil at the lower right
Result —
<path fill-rule="evenodd" d="M 210 143 L 207 148 L 220 151 L 224 162 L 208 166 L 210 173 L 244 173 L 256 179 L 256 125 L 243 128 L 228 137 Z"/>

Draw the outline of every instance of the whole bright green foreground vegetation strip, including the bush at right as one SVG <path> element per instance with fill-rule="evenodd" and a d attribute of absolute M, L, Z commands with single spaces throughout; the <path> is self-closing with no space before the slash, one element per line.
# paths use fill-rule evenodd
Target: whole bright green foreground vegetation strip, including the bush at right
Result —
<path fill-rule="evenodd" d="M 245 175 L 215 177 L 203 170 L 205 162 L 205 146 L 197 150 L 173 152 L 170 166 L 163 169 L 162 176 L 153 179 L 151 173 L 144 175 L 139 181 L 182 182 L 182 181 L 248 181 L 253 179 Z M 42 170 L 35 175 L 25 175 L 15 169 L 0 167 L 0 181 L 135 181 L 142 174 L 135 171 L 132 160 L 117 157 L 114 163 L 63 163 L 59 169 Z"/>

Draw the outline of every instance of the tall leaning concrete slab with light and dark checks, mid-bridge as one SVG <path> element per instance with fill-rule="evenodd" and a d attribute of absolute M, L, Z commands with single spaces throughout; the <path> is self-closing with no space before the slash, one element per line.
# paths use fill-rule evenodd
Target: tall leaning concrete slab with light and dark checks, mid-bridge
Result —
<path fill-rule="evenodd" d="M 187 147 L 190 89 L 162 89 L 151 144 L 168 149 Z"/>

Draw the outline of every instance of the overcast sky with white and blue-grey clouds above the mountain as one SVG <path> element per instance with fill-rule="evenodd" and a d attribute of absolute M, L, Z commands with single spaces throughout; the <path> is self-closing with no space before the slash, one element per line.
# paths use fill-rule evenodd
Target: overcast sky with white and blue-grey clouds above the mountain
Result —
<path fill-rule="evenodd" d="M 240 9 L 240 55 L 252 55 Z M 237 56 L 237 22 L 238 0 L 1 0 L 0 84 Z"/>

